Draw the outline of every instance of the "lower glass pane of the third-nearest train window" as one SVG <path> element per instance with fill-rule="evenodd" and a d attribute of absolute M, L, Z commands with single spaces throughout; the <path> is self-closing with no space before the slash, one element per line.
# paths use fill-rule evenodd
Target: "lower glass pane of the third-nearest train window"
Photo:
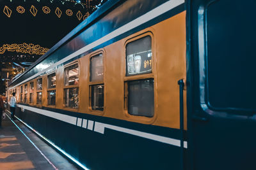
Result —
<path fill-rule="evenodd" d="M 69 108 L 78 108 L 78 88 L 64 89 L 64 104 Z"/>

